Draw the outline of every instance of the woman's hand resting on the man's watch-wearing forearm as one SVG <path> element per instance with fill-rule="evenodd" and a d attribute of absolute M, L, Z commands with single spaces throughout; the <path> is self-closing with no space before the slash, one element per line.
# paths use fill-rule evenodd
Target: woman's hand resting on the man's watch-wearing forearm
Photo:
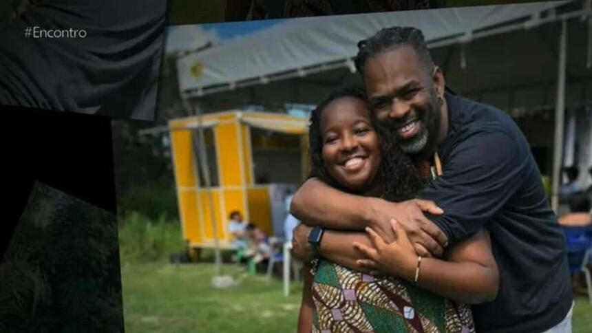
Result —
<path fill-rule="evenodd" d="M 366 228 L 374 248 L 354 242 L 353 246 L 367 259 L 359 259 L 357 264 L 373 275 L 389 275 L 413 281 L 417 266 L 417 255 L 405 229 L 397 221 L 390 220 L 396 239 L 386 243 L 372 228 Z"/>

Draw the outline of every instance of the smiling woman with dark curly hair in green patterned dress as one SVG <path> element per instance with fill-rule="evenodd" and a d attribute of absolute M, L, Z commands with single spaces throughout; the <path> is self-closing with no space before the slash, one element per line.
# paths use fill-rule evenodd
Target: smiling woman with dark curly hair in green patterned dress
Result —
<path fill-rule="evenodd" d="M 414 197 L 425 180 L 398 147 L 380 140 L 365 101 L 359 89 L 345 88 L 313 111 L 313 175 L 350 193 L 392 201 Z M 352 244 L 370 258 L 359 264 L 374 276 L 324 259 L 314 264 L 314 277 L 305 275 L 299 332 L 474 332 L 469 307 L 456 301 L 467 293 L 477 292 L 483 301 L 497 293 L 498 269 L 485 230 L 451 248 L 448 261 L 422 264 L 405 231 L 396 222 L 393 228 L 397 240 L 390 244 L 373 230 L 364 244 Z"/>

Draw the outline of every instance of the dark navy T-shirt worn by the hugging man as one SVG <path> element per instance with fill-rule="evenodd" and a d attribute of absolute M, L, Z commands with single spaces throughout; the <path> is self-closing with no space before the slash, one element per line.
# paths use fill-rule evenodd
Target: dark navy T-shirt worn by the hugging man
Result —
<path fill-rule="evenodd" d="M 472 307 L 477 332 L 542 332 L 564 319 L 573 295 L 564 234 L 526 138 L 489 105 L 446 95 L 443 175 L 421 193 L 443 208 L 430 218 L 454 244 L 491 234 L 500 272 L 494 301 Z"/>

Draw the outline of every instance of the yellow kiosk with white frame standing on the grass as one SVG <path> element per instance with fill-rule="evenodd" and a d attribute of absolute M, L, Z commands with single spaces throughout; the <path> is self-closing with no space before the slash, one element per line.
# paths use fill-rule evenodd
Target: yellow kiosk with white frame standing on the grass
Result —
<path fill-rule="evenodd" d="M 204 187 L 198 165 L 200 126 L 209 189 Z M 279 219 L 285 215 L 284 193 L 295 189 L 308 172 L 307 119 L 226 111 L 204 114 L 201 119 L 170 120 L 169 131 L 182 235 L 192 259 L 197 259 L 200 248 L 214 246 L 213 225 L 220 247 L 231 248 L 228 220 L 232 211 L 240 211 L 267 235 L 282 235 Z"/>

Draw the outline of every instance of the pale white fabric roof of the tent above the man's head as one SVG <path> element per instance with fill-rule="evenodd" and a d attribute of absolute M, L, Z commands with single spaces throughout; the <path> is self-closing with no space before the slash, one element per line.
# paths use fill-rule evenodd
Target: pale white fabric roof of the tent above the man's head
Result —
<path fill-rule="evenodd" d="M 200 96 L 249 84 L 267 83 L 271 76 L 293 72 L 306 75 L 349 66 L 357 42 L 381 28 L 409 25 L 423 31 L 431 47 L 470 41 L 476 34 L 504 32 L 504 25 L 523 19 L 536 25 L 541 13 L 566 1 L 505 6 L 474 6 L 372 14 L 307 17 L 278 23 L 268 30 L 234 42 L 215 45 L 178 60 L 182 96 Z M 550 17 L 553 15 L 547 15 Z M 527 22 L 528 21 L 528 22 Z M 452 39 L 453 41 L 446 41 Z M 320 66 L 320 67 L 319 67 Z"/>

